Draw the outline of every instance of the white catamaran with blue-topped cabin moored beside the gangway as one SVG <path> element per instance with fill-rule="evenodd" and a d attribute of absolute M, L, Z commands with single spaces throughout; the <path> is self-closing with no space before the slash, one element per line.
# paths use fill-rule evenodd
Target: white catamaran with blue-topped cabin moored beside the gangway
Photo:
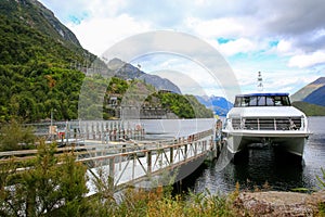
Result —
<path fill-rule="evenodd" d="M 236 95 L 222 128 L 222 140 L 232 154 L 252 143 L 269 143 L 302 157 L 310 135 L 306 114 L 291 105 L 288 93 L 281 92 Z"/>

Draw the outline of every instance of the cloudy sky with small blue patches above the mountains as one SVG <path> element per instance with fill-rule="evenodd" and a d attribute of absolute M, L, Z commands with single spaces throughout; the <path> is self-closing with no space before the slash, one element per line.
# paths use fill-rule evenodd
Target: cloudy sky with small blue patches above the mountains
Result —
<path fill-rule="evenodd" d="M 40 2 L 98 56 L 139 34 L 167 30 L 193 36 L 220 52 L 242 93 L 257 91 L 258 72 L 264 91 L 290 94 L 325 76 L 324 0 Z M 182 53 L 156 52 L 123 61 L 170 79 L 183 93 L 224 94 L 223 81 L 194 60 Z"/>

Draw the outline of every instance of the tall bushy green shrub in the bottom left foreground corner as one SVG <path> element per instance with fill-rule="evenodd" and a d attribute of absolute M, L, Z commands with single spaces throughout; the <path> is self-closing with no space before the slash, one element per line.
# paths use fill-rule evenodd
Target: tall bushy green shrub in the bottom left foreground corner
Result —
<path fill-rule="evenodd" d="M 17 171 L 12 166 L 1 167 L 8 169 L 0 174 L 2 216 L 42 216 L 53 212 L 60 216 L 80 215 L 88 192 L 87 168 L 76 163 L 73 152 L 62 157 L 55 152 L 55 144 L 41 142 L 28 168 Z"/>

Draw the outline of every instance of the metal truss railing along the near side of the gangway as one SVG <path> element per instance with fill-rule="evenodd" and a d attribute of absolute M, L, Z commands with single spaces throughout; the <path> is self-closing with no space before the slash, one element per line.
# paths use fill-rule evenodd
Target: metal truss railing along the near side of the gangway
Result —
<path fill-rule="evenodd" d="M 89 175 L 94 178 L 100 177 L 99 169 L 108 171 L 109 188 L 119 188 L 205 157 L 212 144 L 211 133 L 212 130 L 207 130 L 187 138 L 151 144 L 151 148 L 143 150 L 79 158 L 78 162 L 87 164 Z"/>

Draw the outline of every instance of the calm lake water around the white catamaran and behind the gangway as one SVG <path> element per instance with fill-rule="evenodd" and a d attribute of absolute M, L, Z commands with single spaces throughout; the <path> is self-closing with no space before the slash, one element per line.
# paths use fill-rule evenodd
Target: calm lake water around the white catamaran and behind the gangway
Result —
<path fill-rule="evenodd" d="M 213 119 L 142 120 L 147 139 L 181 137 L 211 128 Z M 316 176 L 325 169 L 325 117 L 310 117 L 310 136 L 304 146 L 303 164 L 282 156 L 272 146 L 251 146 L 246 157 L 220 169 L 218 161 L 203 167 L 186 180 L 185 188 L 195 192 L 208 189 L 211 193 L 227 193 L 239 182 L 242 189 L 262 188 L 288 191 L 296 188 L 314 189 Z"/>

